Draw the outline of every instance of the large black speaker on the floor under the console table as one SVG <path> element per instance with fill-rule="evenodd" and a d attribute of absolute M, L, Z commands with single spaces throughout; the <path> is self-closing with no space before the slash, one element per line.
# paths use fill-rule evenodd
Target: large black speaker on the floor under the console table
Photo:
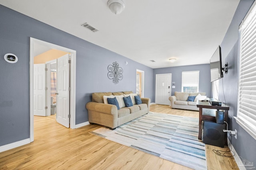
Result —
<path fill-rule="evenodd" d="M 223 148 L 225 144 L 223 129 L 225 129 L 225 124 L 204 121 L 202 130 L 203 143 Z"/>

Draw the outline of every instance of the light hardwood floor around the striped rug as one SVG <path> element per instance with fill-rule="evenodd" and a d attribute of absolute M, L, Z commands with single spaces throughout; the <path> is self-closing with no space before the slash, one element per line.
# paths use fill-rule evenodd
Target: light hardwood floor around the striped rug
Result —
<path fill-rule="evenodd" d="M 198 111 L 171 109 L 163 105 L 151 105 L 150 111 L 198 117 Z M 56 123 L 55 115 L 35 116 L 34 142 L 1 152 L 0 169 L 190 169 L 89 133 L 100 127 L 102 126 L 87 125 L 68 129 Z M 238 169 L 233 157 L 217 156 L 212 149 L 226 150 L 206 145 L 209 170 Z"/>

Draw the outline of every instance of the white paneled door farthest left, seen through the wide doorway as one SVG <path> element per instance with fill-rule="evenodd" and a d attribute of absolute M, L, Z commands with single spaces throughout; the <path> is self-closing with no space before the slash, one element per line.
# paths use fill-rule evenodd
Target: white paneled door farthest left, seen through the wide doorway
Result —
<path fill-rule="evenodd" d="M 34 64 L 34 115 L 46 116 L 45 64 Z"/>

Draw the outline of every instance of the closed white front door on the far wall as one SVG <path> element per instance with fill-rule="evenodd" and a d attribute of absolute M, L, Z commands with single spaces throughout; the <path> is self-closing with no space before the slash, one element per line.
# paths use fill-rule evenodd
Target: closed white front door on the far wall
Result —
<path fill-rule="evenodd" d="M 172 74 L 156 74 L 156 104 L 170 105 Z"/>

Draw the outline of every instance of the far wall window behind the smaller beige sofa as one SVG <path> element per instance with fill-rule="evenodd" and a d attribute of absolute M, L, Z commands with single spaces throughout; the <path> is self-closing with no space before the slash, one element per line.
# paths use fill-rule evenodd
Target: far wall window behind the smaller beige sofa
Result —
<path fill-rule="evenodd" d="M 182 92 L 196 93 L 199 90 L 199 71 L 182 72 Z"/>

